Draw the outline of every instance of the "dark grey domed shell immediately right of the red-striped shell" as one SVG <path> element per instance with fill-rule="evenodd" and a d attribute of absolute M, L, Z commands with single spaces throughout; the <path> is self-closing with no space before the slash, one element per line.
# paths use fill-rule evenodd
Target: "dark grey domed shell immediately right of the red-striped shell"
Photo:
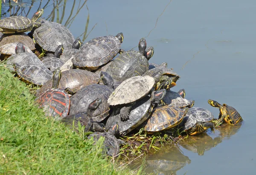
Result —
<path fill-rule="evenodd" d="M 61 78 L 62 79 L 62 78 Z M 89 104 L 97 98 L 102 99 L 99 107 L 91 115 L 93 121 L 102 121 L 109 115 L 110 107 L 107 103 L 112 91 L 105 85 L 88 85 L 70 97 L 70 114 L 84 112 Z"/>

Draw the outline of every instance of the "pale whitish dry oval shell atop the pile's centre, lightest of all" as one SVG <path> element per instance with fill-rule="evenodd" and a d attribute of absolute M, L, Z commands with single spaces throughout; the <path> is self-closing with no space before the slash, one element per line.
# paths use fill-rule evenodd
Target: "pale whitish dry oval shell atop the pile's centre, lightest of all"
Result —
<path fill-rule="evenodd" d="M 118 105 L 135 102 L 146 96 L 154 86 L 150 76 L 134 76 L 123 81 L 109 96 L 108 104 Z"/>

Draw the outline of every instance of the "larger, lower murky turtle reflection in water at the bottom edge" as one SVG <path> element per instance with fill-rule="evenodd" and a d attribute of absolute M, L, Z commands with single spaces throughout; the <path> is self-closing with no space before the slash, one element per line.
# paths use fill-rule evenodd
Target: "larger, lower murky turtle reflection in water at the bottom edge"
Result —
<path fill-rule="evenodd" d="M 183 155 L 177 147 L 165 147 L 161 151 L 147 158 L 146 172 L 163 171 L 163 174 L 176 174 L 176 172 L 191 160 Z M 153 169 L 152 169 L 153 168 Z"/>

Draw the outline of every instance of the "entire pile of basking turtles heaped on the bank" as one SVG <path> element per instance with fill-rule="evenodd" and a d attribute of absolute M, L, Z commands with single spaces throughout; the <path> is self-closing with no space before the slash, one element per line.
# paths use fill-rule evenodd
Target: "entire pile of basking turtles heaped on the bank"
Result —
<path fill-rule="evenodd" d="M 80 123 L 86 132 L 96 131 L 90 135 L 94 140 L 105 137 L 108 155 L 119 153 L 121 142 L 114 135 L 127 135 L 135 129 L 150 134 L 178 126 L 196 135 L 223 121 L 241 124 L 240 114 L 227 104 L 209 99 L 220 110 L 219 119 L 214 120 L 209 110 L 193 107 L 195 101 L 185 99 L 184 89 L 170 90 L 180 76 L 166 62 L 148 62 L 154 48 L 147 48 L 145 39 L 140 39 L 139 51 L 121 49 L 122 33 L 81 45 L 65 26 L 36 22 L 43 12 L 37 11 L 32 19 L 0 20 L 0 31 L 5 33 L 0 38 L 0 52 L 6 67 L 24 82 L 41 86 L 36 102 L 47 116 L 75 127 Z M 31 33 L 24 34 L 26 31 Z M 38 47 L 47 56 L 39 59 L 33 53 Z"/>

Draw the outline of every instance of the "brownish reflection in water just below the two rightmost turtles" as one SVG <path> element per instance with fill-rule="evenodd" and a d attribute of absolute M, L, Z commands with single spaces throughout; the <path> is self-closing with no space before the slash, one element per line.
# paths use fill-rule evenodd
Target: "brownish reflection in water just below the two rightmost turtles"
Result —
<path fill-rule="evenodd" d="M 186 150 L 197 152 L 198 155 L 202 156 L 204 152 L 212 149 L 212 147 L 215 147 L 221 142 L 221 137 L 212 138 L 206 133 L 202 133 L 200 135 L 191 136 L 185 141 L 180 141 L 180 145 Z"/>

